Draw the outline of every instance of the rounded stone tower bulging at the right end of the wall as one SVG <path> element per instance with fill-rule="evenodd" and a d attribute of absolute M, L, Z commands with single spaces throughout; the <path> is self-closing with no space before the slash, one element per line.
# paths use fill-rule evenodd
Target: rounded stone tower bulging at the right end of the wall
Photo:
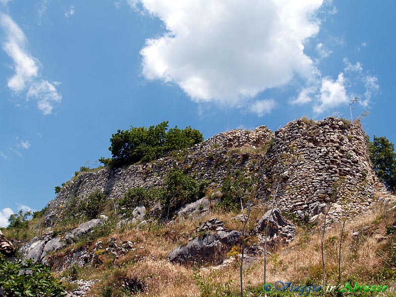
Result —
<path fill-rule="evenodd" d="M 346 120 L 299 119 L 275 132 L 263 160 L 257 198 L 276 198 L 281 210 L 312 216 L 331 205 L 330 218 L 365 211 L 375 192 L 375 175 L 364 133 Z"/>

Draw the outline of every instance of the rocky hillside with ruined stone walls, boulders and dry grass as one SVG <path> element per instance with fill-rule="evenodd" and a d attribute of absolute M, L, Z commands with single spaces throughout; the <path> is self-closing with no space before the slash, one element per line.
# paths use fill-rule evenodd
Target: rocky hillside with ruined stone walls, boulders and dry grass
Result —
<path fill-rule="evenodd" d="M 159 189 L 174 168 L 205 181 L 204 197 L 166 219 L 156 197 L 146 206 L 120 206 L 129 189 Z M 248 183 L 237 183 L 241 178 Z M 220 207 L 227 191 L 239 193 L 230 200 L 235 207 Z M 88 220 L 77 205 L 93 195 L 106 207 Z M 221 133 L 149 163 L 80 172 L 49 202 L 32 226 L 39 234 L 17 254 L 51 267 L 69 297 L 239 296 L 244 243 L 246 292 L 259 296 L 266 239 L 269 282 L 322 282 L 318 231 L 327 213 L 329 282 L 337 282 L 345 218 L 342 280 L 378 282 L 396 275 L 395 204 L 374 175 L 358 125 L 299 119 L 275 132 Z"/>

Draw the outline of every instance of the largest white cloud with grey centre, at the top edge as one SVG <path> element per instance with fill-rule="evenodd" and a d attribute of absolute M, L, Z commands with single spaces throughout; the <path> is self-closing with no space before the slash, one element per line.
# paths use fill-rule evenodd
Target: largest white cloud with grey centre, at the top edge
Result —
<path fill-rule="evenodd" d="M 322 0 L 127 2 L 168 30 L 141 50 L 144 76 L 176 83 L 195 101 L 238 105 L 314 72 L 303 44 L 319 32 Z"/>

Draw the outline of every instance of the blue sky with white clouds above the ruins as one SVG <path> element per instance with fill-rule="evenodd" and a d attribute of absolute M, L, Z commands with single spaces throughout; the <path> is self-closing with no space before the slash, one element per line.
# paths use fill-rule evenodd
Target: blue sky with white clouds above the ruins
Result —
<path fill-rule="evenodd" d="M 247 4 L 248 3 L 248 4 Z M 393 0 L 0 0 L 0 226 L 40 210 L 118 129 L 205 139 L 308 116 L 393 143 Z"/>

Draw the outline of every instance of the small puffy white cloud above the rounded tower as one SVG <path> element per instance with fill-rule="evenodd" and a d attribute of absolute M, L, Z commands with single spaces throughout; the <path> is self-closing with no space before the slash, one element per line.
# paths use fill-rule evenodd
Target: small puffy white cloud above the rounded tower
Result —
<path fill-rule="evenodd" d="M 313 107 L 314 112 L 322 113 L 329 108 L 349 102 L 344 83 L 344 73 L 340 73 L 336 81 L 329 77 L 324 77 L 318 98 L 319 104 Z"/>

